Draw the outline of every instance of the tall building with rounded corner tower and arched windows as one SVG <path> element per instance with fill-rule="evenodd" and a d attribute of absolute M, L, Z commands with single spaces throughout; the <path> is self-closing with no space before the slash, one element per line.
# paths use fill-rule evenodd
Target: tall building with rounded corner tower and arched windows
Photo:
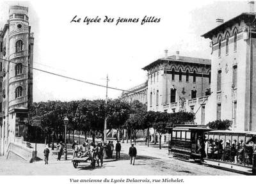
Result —
<path fill-rule="evenodd" d="M 33 101 L 33 33 L 28 8 L 10 6 L 9 20 L 0 31 L 0 154 L 19 142 L 28 130 Z"/>

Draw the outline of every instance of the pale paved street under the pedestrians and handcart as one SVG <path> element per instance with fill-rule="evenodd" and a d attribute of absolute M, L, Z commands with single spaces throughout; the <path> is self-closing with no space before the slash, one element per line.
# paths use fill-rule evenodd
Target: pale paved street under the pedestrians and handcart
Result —
<path fill-rule="evenodd" d="M 38 145 L 38 153 L 44 145 Z M 44 161 L 29 164 L 17 160 L 6 160 L 0 157 L 1 175 L 239 175 L 222 171 L 205 165 L 184 162 L 168 158 L 167 149 L 159 150 L 151 145 L 149 148 L 142 142 L 136 145 L 138 158 L 135 165 L 129 164 L 127 155 L 129 144 L 122 144 L 120 160 L 104 160 L 102 167 L 92 169 L 88 165 L 74 169 L 70 160 L 57 161 L 56 155 L 50 155 L 49 165 Z M 115 154 L 115 152 L 114 152 Z M 42 155 L 42 154 L 41 154 Z M 39 154 L 39 157 L 41 156 Z M 68 157 L 70 159 L 70 157 Z"/>

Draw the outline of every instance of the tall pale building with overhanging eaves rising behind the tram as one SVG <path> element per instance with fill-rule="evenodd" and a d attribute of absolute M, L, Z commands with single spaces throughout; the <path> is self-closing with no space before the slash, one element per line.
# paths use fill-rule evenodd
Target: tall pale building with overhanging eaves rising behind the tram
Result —
<path fill-rule="evenodd" d="M 203 34 L 211 39 L 211 91 L 207 119 L 232 120 L 234 130 L 256 130 L 256 13 L 223 22 Z M 239 108 L 237 108 L 239 107 Z"/>

